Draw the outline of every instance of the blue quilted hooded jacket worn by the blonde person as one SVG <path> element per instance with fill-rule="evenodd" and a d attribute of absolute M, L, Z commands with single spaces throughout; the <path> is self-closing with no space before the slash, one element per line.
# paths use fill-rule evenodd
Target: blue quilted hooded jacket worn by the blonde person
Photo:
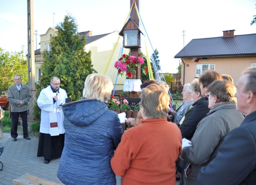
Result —
<path fill-rule="evenodd" d="M 115 185 L 110 160 L 123 134 L 117 113 L 96 99 L 67 103 L 62 110 L 66 133 L 57 178 L 66 185 Z"/>

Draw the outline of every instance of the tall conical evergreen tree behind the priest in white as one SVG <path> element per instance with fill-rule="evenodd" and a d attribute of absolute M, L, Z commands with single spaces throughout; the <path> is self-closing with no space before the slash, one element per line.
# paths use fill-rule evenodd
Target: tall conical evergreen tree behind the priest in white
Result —
<path fill-rule="evenodd" d="M 92 67 L 91 52 L 85 52 L 85 36 L 80 37 L 74 17 L 66 15 L 55 27 L 57 36 L 51 37 L 50 51 L 43 52 L 42 76 L 36 84 L 37 94 L 50 85 L 53 76 L 61 80 L 60 87 L 76 101 L 82 97 L 87 75 L 96 72 Z M 34 117 L 40 121 L 40 109 L 35 104 Z"/>

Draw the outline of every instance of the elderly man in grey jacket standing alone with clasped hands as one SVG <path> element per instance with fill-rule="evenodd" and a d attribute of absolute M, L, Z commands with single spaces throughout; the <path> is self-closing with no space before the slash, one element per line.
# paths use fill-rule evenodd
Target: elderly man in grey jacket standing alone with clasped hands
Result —
<path fill-rule="evenodd" d="M 14 85 L 7 91 L 7 100 L 11 103 L 11 137 L 12 141 L 17 141 L 17 127 L 19 115 L 22 119 L 23 137 L 30 140 L 27 131 L 27 110 L 31 94 L 27 85 L 21 84 L 21 75 L 14 76 Z"/>

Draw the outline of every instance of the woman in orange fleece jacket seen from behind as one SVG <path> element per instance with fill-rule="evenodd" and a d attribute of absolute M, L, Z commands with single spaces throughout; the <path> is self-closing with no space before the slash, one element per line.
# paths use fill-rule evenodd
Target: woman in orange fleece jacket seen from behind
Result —
<path fill-rule="evenodd" d="M 169 96 L 156 84 L 140 95 L 143 120 L 124 132 L 111 167 L 122 185 L 175 185 L 176 164 L 182 152 L 181 132 L 167 121 Z"/>

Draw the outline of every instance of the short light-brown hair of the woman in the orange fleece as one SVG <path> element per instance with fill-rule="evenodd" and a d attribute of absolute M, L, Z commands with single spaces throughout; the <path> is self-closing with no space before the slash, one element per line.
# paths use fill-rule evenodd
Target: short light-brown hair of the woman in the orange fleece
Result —
<path fill-rule="evenodd" d="M 145 110 L 148 118 L 167 117 L 169 109 L 169 95 L 157 84 L 151 84 L 142 89 L 140 106 Z"/>

